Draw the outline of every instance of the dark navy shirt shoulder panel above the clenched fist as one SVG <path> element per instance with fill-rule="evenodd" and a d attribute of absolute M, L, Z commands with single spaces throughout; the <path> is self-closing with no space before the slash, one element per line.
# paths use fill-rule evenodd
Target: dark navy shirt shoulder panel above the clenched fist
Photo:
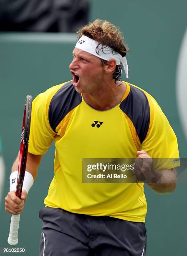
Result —
<path fill-rule="evenodd" d="M 120 109 L 130 118 L 142 143 L 147 135 L 150 123 L 149 102 L 145 93 L 131 86 L 129 95 L 120 104 Z"/>

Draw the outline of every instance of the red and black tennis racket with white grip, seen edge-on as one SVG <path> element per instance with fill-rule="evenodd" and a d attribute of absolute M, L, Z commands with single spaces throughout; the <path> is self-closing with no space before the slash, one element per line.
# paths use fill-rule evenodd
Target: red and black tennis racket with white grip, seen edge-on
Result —
<path fill-rule="evenodd" d="M 23 125 L 21 131 L 21 143 L 20 143 L 20 157 L 18 166 L 18 181 L 16 187 L 16 196 L 21 197 L 23 179 L 25 176 L 25 167 L 28 153 L 28 141 L 30 133 L 30 117 L 31 117 L 31 104 L 32 96 L 27 95 L 25 99 L 25 109 L 23 114 Z M 10 233 L 8 237 L 8 243 L 10 245 L 16 245 L 18 243 L 18 229 L 20 223 L 20 214 L 12 215 L 10 223 Z"/>

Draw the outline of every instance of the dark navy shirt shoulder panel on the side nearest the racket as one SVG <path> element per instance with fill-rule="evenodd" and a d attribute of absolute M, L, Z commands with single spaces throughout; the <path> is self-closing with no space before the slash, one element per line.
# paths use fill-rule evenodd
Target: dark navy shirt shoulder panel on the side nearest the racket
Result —
<path fill-rule="evenodd" d="M 64 84 L 53 96 L 49 105 L 49 123 L 54 132 L 61 120 L 82 101 L 72 81 Z"/>

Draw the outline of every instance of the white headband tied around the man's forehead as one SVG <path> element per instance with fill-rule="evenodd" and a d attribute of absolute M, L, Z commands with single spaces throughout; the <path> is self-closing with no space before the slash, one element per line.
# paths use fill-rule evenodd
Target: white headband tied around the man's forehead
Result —
<path fill-rule="evenodd" d="M 125 76 L 126 78 L 129 78 L 128 77 L 129 68 L 127 65 L 126 58 L 122 57 L 121 54 L 114 51 L 111 47 L 106 45 L 101 45 L 97 41 L 89 38 L 88 36 L 81 36 L 81 38 L 76 43 L 75 47 L 83 51 L 87 51 L 88 53 L 93 54 L 101 59 L 105 59 L 107 61 L 109 59 L 115 59 L 117 65 L 119 65 L 121 61 L 125 70 Z M 97 51 L 96 51 L 96 48 L 97 48 Z"/>

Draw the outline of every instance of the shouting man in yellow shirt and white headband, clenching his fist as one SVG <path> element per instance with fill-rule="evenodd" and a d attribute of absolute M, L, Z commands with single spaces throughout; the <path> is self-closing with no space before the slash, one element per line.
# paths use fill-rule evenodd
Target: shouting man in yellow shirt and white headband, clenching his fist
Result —
<path fill-rule="evenodd" d="M 152 158 L 179 157 L 177 139 L 154 98 L 119 81 L 120 62 L 128 77 L 127 51 L 121 32 L 110 22 L 89 23 L 78 31 L 69 66 L 73 80 L 33 101 L 26 167 L 29 185 L 24 185 L 21 200 L 10 186 L 5 206 L 11 214 L 22 212 L 42 155 L 54 140 L 55 175 L 39 213 L 43 220 L 40 255 L 146 253 L 143 183 L 83 183 L 82 159 L 136 158 L 136 177 L 148 176 L 155 192 L 171 193 L 176 187 L 177 161 L 147 172 Z M 138 160 L 144 158 L 149 161 L 141 166 Z M 17 169 L 18 158 L 10 181 Z"/>

